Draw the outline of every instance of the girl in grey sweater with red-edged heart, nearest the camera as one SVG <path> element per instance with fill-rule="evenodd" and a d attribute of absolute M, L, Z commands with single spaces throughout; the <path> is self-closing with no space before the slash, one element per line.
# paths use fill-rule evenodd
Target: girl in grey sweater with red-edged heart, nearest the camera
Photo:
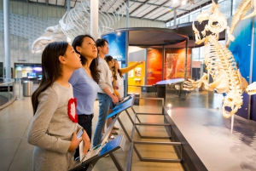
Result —
<path fill-rule="evenodd" d="M 85 131 L 77 138 L 81 126 L 73 87 L 68 83 L 81 62 L 68 43 L 49 43 L 42 54 L 42 67 L 42 81 L 32 94 L 34 117 L 28 132 L 28 142 L 35 145 L 33 170 L 68 170 L 80 141 L 84 140 L 84 153 L 90 148 Z"/>

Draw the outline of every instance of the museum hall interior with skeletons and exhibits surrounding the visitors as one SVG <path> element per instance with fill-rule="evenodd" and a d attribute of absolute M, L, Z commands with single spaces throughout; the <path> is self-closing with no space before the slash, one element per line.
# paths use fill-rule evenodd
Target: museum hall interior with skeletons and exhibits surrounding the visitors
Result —
<path fill-rule="evenodd" d="M 38 170 L 28 134 L 44 48 L 89 34 L 120 69 L 143 62 L 123 74 L 101 146 L 68 170 L 255 171 L 255 20 L 254 0 L 1 1 L 0 170 Z"/>

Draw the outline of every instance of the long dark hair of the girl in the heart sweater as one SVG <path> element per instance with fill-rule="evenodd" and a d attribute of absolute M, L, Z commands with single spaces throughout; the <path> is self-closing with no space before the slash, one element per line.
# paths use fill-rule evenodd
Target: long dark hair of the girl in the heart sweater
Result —
<path fill-rule="evenodd" d="M 35 115 L 38 109 L 38 96 L 46 88 L 54 83 L 58 77 L 61 76 L 61 65 L 59 56 L 64 56 L 67 51 L 68 43 L 66 42 L 55 42 L 49 43 L 42 54 L 42 69 L 43 77 L 39 84 L 39 87 L 32 94 L 32 107 Z"/>

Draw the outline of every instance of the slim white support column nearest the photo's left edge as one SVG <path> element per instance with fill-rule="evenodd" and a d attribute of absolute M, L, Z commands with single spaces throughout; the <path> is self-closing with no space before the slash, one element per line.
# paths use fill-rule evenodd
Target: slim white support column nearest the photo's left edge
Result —
<path fill-rule="evenodd" d="M 9 53 L 9 0 L 3 0 L 3 32 L 4 32 L 4 66 L 5 77 L 11 78 L 10 53 Z"/>

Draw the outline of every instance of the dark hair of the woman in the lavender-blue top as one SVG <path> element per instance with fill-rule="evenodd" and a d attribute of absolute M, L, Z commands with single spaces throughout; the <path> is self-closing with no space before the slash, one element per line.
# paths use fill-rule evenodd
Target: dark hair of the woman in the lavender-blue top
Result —
<path fill-rule="evenodd" d="M 72 46 L 73 46 L 73 49 L 76 51 L 77 54 L 80 54 L 79 51 L 77 50 L 77 46 L 82 46 L 82 43 L 84 42 L 84 37 L 89 37 L 94 41 L 94 39 L 92 37 L 90 37 L 90 35 L 79 35 L 78 37 L 75 37 L 74 40 L 73 40 L 73 43 L 72 43 Z M 96 48 L 97 50 L 97 48 Z M 100 81 L 100 71 L 97 69 L 97 66 L 98 66 L 98 58 L 99 57 L 96 57 L 96 59 L 92 60 L 91 63 L 90 63 L 90 73 L 91 73 L 91 77 L 93 78 L 93 80 L 96 82 L 96 83 L 99 83 Z M 83 54 L 80 54 L 80 59 L 81 59 L 81 63 L 82 65 L 84 66 L 88 60 L 86 59 L 86 57 L 83 55 Z"/>

